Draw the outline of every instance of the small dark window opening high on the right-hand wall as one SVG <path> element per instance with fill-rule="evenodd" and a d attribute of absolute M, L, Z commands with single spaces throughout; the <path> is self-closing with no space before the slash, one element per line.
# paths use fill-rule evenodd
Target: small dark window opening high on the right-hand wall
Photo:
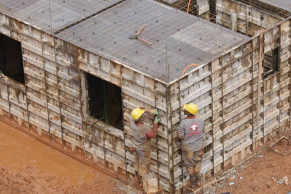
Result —
<path fill-rule="evenodd" d="M 278 71 L 279 47 L 264 55 L 264 78 Z"/>

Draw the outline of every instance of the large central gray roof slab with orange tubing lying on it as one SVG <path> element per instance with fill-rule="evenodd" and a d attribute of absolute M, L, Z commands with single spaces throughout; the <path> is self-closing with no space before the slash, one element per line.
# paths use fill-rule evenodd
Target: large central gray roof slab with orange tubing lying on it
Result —
<path fill-rule="evenodd" d="M 146 24 L 140 37 L 129 39 Z M 58 34 L 62 39 L 147 75 L 169 82 L 189 64 L 205 64 L 226 49 L 249 39 L 152 0 L 126 0 Z"/>

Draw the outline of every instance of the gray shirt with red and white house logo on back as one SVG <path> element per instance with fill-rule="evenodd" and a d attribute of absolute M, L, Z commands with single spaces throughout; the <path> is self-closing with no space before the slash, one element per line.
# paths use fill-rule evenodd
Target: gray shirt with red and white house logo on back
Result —
<path fill-rule="evenodd" d="M 189 152 L 202 149 L 203 129 L 203 119 L 196 116 L 183 119 L 178 130 L 178 137 L 182 139 L 181 149 Z"/>

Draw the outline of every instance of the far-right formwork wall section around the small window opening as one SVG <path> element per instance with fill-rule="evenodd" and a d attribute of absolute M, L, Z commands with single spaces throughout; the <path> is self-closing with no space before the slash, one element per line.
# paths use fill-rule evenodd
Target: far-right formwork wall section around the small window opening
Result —
<path fill-rule="evenodd" d="M 264 142 L 290 119 L 290 19 L 264 34 L 264 53 L 279 48 L 279 71 L 263 82 Z"/>

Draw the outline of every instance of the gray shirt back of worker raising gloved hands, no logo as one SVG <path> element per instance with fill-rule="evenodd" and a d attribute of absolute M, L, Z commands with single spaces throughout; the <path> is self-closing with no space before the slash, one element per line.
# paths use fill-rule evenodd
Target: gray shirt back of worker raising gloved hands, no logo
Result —
<path fill-rule="evenodd" d="M 151 139 L 146 136 L 148 127 L 144 124 L 136 125 L 132 120 L 130 122 L 130 128 L 133 135 L 133 148 L 137 148 L 143 151 L 149 151 L 151 146 Z"/>

